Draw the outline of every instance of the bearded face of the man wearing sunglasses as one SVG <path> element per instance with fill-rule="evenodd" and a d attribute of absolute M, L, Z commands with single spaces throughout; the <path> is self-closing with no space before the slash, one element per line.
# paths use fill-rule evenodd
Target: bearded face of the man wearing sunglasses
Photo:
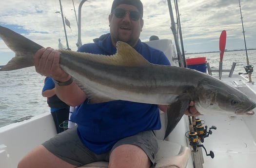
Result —
<path fill-rule="evenodd" d="M 137 7 L 128 4 L 120 4 L 117 8 L 138 12 Z M 110 34 L 113 45 L 116 46 L 117 41 L 123 41 L 134 47 L 138 42 L 143 23 L 141 17 L 138 20 L 132 20 L 129 12 L 126 12 L 123 18 L 116 17 L 114 13 L 109 15 Z"/>

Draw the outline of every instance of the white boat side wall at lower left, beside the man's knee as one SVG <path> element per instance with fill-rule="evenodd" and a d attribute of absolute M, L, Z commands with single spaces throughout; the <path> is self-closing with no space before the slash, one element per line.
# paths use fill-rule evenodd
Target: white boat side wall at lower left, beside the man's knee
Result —
<path fill-rule="evenodd" d="M 50 112 L 0 128 L 0 168 L 17 168 L 26 153 L 56 133 Z"/>

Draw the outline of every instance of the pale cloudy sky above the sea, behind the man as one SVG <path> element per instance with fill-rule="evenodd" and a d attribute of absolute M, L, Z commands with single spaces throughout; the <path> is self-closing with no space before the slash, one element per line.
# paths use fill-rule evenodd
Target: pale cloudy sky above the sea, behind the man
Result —
<path fill-rule="evenodd" d="M 74 6 L 73 6 L 74 1 Z M 78 41 L 79 2 L 61 0 L 63 15 L 70 21 L 66 26 L 68 44 L 76 51 Z M 152 35 L 172 39 L 171 20 L 167 0 L 141 0 L 144 5 L 144 26 L 141 41 Z M 82 6 L 82 44 L 109 32 L 108 15 L 113 0 L 87 0 Z M 171 0 L 174 10 L 174 0 Z M 247 49 L 256 48 L 255 0 L 240 0 Z M 186 53 L 219 50 L 219 36 L 227 32 L 226 49 L 244 49 L 238 0 L 179 0 L 183 45 Z M 175 15 L 176 18 L 176 15 Z M 175 19 L 176 21 L 176 19 Z M 59 39 L 66 47 L 59 0 L 2 0 L 0 25 L 37 42 L 44 47 L 58 49 Z M 0 39 L 0 65 L 5 65 L 15 54 Z"/>

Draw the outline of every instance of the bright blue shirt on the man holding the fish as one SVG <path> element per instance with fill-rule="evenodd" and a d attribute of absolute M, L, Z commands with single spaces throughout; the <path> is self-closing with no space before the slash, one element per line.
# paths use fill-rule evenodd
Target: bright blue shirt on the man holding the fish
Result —
<path fill-rule="evenodd" d="M 134 47 L 149 62 L 170 65 L 163 52 L 138 40 Z M 78 50 L 92 54 L 113 55 L 117 49 L 111 43 L 110 34 L 84 44 Z M 109 151 L 120 139 L 146 130 L 161 128 L 158 105 L 122 100 L 88 104 L 82 103 L 71 116 L 78 124 L 78 135 L 82 143 L 97 154 Z"/>

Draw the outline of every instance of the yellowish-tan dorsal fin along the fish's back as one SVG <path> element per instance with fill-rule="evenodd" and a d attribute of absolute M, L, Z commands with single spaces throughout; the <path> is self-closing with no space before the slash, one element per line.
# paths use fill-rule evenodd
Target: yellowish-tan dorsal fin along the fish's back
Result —
<path fill-rule="evenodd" d="M 150 63 L 141 56 L 133 47 L 129 44 L 118 41 L 117 42 L 117 53 L 111 56 L 80 53 L 70 50 L 59 50 L 61 54 L 80 57 L 88 61 L 94 61 L 98 63 L 104 63 L 109 65 L 117 66 L 146 66 Z"/>

